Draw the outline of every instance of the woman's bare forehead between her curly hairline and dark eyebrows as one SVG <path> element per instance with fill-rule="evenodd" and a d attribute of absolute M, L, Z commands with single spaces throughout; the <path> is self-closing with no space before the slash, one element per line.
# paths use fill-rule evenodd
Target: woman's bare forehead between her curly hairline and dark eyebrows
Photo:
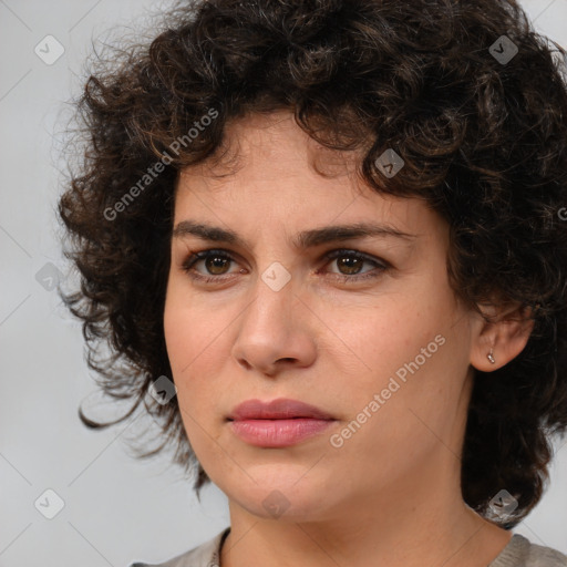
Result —
<path fill-rule="evenodd" d="M 248 230 L 299 231 L 380 223 L 405 234 L 440 224 L 422 199 L 368 186 L 357 173 L 361 157 L 321 146 L 290 112 L 235 120 L 214 156 L 179 173 L 175 224 L 190 218 L 233 229 L 246 224 Z"/>

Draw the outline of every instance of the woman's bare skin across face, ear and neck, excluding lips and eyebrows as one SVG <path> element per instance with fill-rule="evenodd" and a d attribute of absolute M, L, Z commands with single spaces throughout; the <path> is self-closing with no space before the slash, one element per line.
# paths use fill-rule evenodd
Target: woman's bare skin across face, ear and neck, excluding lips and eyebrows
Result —
<path fill-rule="evenodd" d="M 290 113 L 239 118 L 227 126 L 226 144 L 237 159 L 210 159 L 179 175 L 174 226 L 207 223 L 248 244 L 172 238 L 164 312 L 184 426 L 229 501 L 221 566 L 485 567 L 512 534 L 461 495 L 473 372 L 516 357 L 532 324 L 487 323 L 457 301 L 446 274 L 449 225 L 420 199 L 364 185 L 352 153 L 323 150 Z M 313 159 L 332 175 L 319 175 Z M 290 244 L 301 230 L 355 221 L 414 237 L 306 250 Z M 197 261 L 194 272 L 217 280 L 192 279 L 183 262 L 213 248 L 231 259 Z M 344 255 L 324 259 L 339 248 L 391 266 L 375 278 L 342 282 L 339 275 L 377 269 L 368 261 L 348 268 Z M 279 291 L 261 279 L 275 261 L 291 277 Z M 443 346 L 342 446 L 332 446 L 330 436 L 439 334 Z M 491 347 L 495 364 L 486 358 Z M 231 432 L 226 419 L 238 403 L 277 398 L 311 403 L 337 421 L 285 449 L 252 446 Z M 287 503 L 277 517 L 262 505 L 272 491 Z"/>

